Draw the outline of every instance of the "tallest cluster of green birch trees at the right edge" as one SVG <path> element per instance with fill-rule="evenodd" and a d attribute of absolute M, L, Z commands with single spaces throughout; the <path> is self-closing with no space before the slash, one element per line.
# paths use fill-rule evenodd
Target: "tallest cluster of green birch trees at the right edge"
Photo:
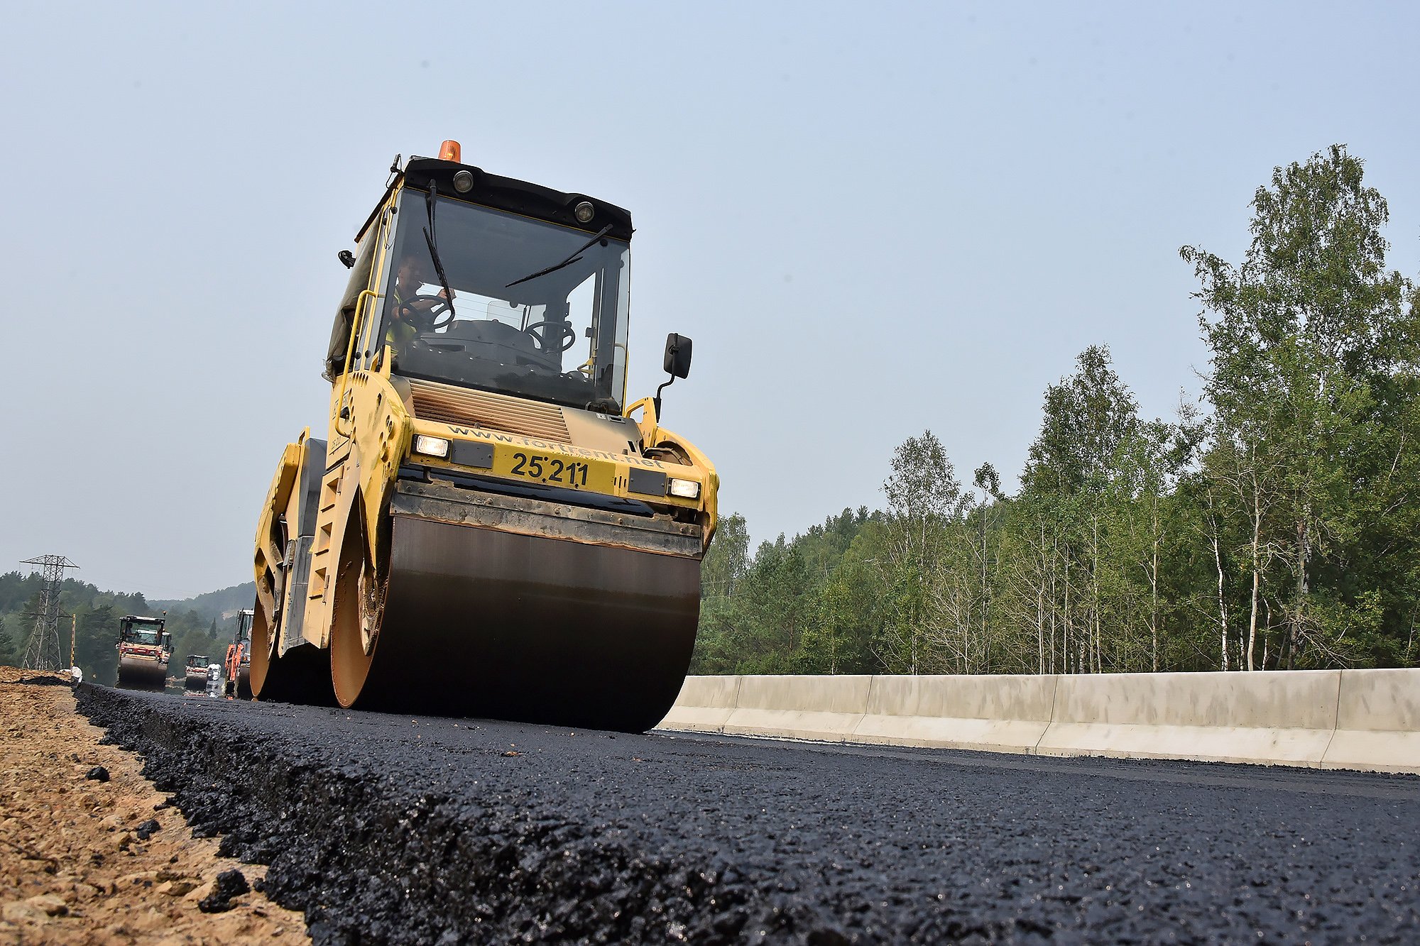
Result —
<path fill-rule="evenodd" d="M 1278 168 L 1241 264 L 1181 250 L 1211 314 L 1203 474 L 1228 513 L 1248 669 L 1393 663 L 1413 621 L 1420 322 L 1362 176 L 1339 145 Z"/>

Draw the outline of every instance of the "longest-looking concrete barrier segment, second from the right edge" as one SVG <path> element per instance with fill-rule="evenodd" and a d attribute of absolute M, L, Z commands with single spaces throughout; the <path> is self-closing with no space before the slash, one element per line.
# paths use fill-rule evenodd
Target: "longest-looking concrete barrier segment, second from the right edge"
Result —
<path fill-rule="evenodd" d="M 1061 676 L 1042 756 L 1319 767 L 1340 670 Z"/>

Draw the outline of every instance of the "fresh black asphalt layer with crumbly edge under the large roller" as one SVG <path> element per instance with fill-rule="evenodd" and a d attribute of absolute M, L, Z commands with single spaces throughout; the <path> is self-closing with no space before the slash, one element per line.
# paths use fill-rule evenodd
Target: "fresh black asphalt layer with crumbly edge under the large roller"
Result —
<path fill-rule="evenodd" d="M 1410 943 L 1420 778 L 84 686 L 317 943 Z"/>

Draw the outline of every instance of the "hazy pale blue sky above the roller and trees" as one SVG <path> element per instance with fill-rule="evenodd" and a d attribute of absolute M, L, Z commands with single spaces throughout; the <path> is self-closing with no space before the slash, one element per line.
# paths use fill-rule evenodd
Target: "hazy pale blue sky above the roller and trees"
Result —
<path fill-rule="evenodd" d="M 1177 249 L 1332 142 L 1420 273 L 1410 3 L 0 4 L 0 570 L 180 598 L 251 578 L 324 432 L 335 260 L 396 152 L 632 212 L 633 396 L 755 540 L 882 506 L 932 429 L 1014 483 L 1105 342 L 1149 416 L 1204 352 Z M 324 436 L 320 433 L 318 436 Z"/>

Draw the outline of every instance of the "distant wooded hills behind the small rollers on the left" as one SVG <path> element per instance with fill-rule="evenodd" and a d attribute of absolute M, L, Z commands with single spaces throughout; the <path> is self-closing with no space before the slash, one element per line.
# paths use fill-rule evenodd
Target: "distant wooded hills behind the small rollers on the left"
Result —
<path fill-rule="evenodd" d="M 0 665 L 18 666 L 34 631 L 44 582 L 38 572 L 0 575 Z M 180 673 L 189 653 L 206 653 L 216 662 L 227 653 L 236 632 L 237 608 L 250 608 L 256 585 L 223 588 L 189 601 L 145 601 L 139 594 L 99 591 L 91 584 L 65 580 L 60 587 L 60 643 L 68 659 L 72 632 L 74 663 L 84 679 L 112 685 L 118 679 L 118 619 L 128 614 L 160 616 L 168 612 L 173 635 L 173 663 Z M 239 604 L 240 602 L 240 604 Z"/>

